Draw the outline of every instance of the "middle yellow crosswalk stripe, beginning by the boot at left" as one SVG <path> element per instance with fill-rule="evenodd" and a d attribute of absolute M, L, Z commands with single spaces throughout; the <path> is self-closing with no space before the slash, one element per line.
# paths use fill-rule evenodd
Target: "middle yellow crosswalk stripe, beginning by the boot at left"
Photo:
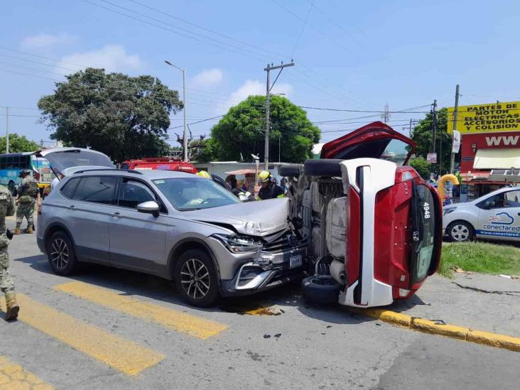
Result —
<path fill-rule="evenodd" d="M 164 359 L 162 354 L 114 336 L 28 296 L 16 294 L 16 298 L 20 305 L 19 320 L 120 372 L 139 374 Z"/>

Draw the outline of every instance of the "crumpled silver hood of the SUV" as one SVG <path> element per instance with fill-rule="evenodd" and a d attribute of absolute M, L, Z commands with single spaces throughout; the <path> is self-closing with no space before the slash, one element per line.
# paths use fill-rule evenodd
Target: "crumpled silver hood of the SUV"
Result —
<path fill-rule="evenodd" d="M 261 200 L 258 202 L 236 203 L 208 209 L 183 211 L 184 218 L 232 226 L 240 234 L 266 236 L 288 228 L 288 198 Z"/>

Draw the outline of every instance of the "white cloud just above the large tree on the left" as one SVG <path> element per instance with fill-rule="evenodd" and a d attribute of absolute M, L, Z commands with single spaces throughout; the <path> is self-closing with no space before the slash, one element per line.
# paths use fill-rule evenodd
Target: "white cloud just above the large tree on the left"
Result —
<path fill-rule="evenodd" d="M 66 55 L 61 60 L 82 67 L 102 67 L 107 72 L 139 70 L 143 67 L 139 55 L 126 54 L 122 45 L 105 45 L 98 50 Z"/>

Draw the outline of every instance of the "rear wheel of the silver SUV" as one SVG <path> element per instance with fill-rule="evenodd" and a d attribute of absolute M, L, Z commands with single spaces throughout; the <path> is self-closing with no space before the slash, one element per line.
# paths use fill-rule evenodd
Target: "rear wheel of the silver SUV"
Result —
<path fill-rule="evenodd" d="M 74 244 L 66 232 L 58 231 L 47 242 L 47 258 L 54 273 L 62 276 L 77 271 L 77 258 Z"/>

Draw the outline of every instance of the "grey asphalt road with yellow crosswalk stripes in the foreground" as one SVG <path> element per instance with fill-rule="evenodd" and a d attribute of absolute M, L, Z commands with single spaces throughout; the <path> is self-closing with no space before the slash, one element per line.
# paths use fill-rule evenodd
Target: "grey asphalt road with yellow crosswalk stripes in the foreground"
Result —
<path fill-rule="evenodd" d="M 0 321 L 0 389 L 518 385 L 519 353 L 309 306 L 297 285 L 200 310 L 140 273 L 86 266 L 55 276 L 34 235 L 15 237 L 9 252 L 21 318 Z"/>

